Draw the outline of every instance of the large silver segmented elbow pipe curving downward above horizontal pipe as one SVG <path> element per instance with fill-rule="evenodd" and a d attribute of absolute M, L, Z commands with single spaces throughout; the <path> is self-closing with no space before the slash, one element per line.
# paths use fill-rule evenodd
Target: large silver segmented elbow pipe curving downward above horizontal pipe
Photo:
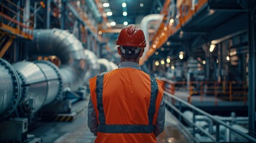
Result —
<path fill-rule="evenodd" d="M 84 82 L 86 59 L 84 47 L 76 37 L 61 29 L 35 29 L 28 43 L 30 55 L 56 55 L 60 61 L 63 88 L 75 91 Z"/>

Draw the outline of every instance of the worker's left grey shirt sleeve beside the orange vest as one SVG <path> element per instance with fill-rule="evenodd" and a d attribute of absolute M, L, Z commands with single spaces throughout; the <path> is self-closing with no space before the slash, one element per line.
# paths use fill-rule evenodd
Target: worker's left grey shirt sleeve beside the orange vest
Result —
<path fill-rule="evenodd" d="M 94 106 L 91 101 L 91 97 L 88 103 L 88 127 L 95 136 L 97 136 L 98 133 L 98 122 L 96 118 L 96 113 L 94 110 Z"/>

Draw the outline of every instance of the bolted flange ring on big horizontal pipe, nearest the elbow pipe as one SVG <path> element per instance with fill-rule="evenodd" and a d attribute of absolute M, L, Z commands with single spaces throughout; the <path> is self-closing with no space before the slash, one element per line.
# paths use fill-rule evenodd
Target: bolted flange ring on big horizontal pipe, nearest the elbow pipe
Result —
<path fill-rule="evenodd" d="M 63 100 L 63 81 L 61 78 L 61 74 L 60 74 L 60 70 L 58 70 L 57 66 L 55 66 L 55 64 L 51 63 L 50 61 L 44 61 L 44 60 L 38 60 L 38 61 L 33 61 L 33 63 L 44 63 L 47 64 L 48 66 L 50 66 L 51 68 L 53 68 L 53 70 L 55 71 L 55 73 L 58 76 L 58 82 L 60 82 L 59 84 L 59 88 L 58 88 L 58 93 L 56 96 L 57 101 L 61 101 Z"/>

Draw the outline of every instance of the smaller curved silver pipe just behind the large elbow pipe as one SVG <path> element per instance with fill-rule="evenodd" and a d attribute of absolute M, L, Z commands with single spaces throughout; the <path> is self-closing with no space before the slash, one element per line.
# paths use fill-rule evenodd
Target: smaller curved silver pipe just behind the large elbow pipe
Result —
<path fill-rule="evenodd" d="M 94 52 L 90 51 L 89 49 L 85 49 L 84 54 L 88 61 L 88 70 L 85 74 L 84 84 L 89 85 L 89 79 L 100 74 L 100 64 L 98 64 L 98 58 Z"/>

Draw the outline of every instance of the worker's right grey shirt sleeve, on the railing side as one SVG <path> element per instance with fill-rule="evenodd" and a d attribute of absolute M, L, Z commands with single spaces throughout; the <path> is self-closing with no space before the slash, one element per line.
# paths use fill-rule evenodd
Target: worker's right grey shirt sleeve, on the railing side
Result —
<path fill-rule="evenodd" d="M 154 134 L 158 136 L 164 132 L 165 128 L 165 101 L 164 96 L 162 97 L 161 104 L 158 110 L 158 117 L 156 118 L 156 124 L 154 125 Z"/>

